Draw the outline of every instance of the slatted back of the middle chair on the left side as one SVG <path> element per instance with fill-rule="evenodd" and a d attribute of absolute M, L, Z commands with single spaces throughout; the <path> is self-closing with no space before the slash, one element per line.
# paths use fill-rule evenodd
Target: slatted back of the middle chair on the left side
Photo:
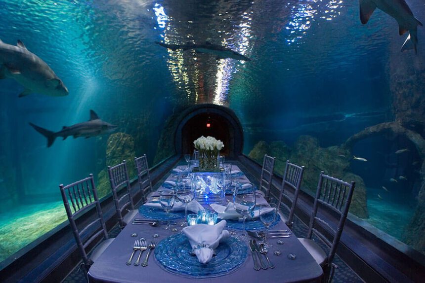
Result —
<path fill-rule="evenodd" d="M 115 210 L 117 211 L 118 222 L 120 223 L 121 229 L 126 226 L 123 220 L 123 211 L 130 207 L 134 209 L 133 199 L 131 197 L 131 186 L 127 172 L 127 162 L 124 160 L 123 163 L 115 166 L 108 166 L 109 181 L 111 182 L 112 197 L 114 199 Z M 126 191 L 120 194 L 121 189 Z"/>

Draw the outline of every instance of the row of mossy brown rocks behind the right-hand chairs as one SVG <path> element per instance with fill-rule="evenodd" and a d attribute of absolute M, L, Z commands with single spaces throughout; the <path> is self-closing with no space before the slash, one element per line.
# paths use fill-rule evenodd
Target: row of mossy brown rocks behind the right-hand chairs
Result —
<path fill-rule="evenodd" d="M 340 146 L 320 147 L 316 138 L 300 136 L 293 147 L 289 147 L 283 141 L 274 141 L 270 144 L 259 141 L 248 156 L 262 164 L 265 153 L 276 157 L 274 172 L 281 176 L 285 170 L 286 160 L 304 166 L 301 187 L 311 192 L 316 191 L 321 171 L 347 182 L 355 181 L 350 212 L 360 218 L 369 217 L 364 181 L 360 176 L 348 171 L 351 159 L 349 150 Z"/>

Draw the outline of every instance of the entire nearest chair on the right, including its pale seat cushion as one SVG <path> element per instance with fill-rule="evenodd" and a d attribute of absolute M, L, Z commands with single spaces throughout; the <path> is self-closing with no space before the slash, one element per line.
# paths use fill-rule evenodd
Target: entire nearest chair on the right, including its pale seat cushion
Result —
<path fill-rule="evenodd" d="M 314 199 L 313 211 L 308 225 L 307 238 L 298 238 L 301 244 L 310 252 L 316 262 L 323 268 L 324 282 L 332 282 L 336 265 L 332 263 L 337 251 L 348 209 L 353 197 L 355 182 L 347 183 L 343 180 L 320 173 L 317 185 L 316 198 Z M 328 222 L 317 215 L 319 204 L 322 208 L 330 209 L 339 215 L 337 229 L 334 229 Z M 323 235 L 315 226 L 319 223 L 325 230 L 333 236 L 332 242 Z M 326 253 L 311 237 L 313 233 L 322 240 L 329 248 Z"/>

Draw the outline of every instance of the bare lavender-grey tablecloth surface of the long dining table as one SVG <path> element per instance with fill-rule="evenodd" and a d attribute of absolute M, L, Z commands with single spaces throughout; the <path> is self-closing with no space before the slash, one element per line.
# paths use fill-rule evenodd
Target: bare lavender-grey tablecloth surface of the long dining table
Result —
<path fill-rule="evenodd" d="M 237 168 L 232 165 L 232 169 Z M 240 177 L 244 178 L 245 175 Z M 167 180 L 173 180 L 175 177 L 170 174 Z M 246 178 L 246 177 L 245 177 Z M 247 179 L 248 180 L 248 179 Z M 162 188 L 162 186 L 160 187 Z M 227 196 L 230 198 L 231 196 Z M 257 202 L 265 202 L 261 196 Z M 205 208 L 209 208 L 208 204 L 202 204 Z M 212 209 L 211 209 L 212 210 Z M 189 212 L 190 213 L 190 212 Z M 139 213 L 134 218 L 143 218 Z M 119 233 L 116 239 L 109 247 L 96 259 L 88 272 L 89 282 L 91 283 L 183 283 L 203 281 L 208 283 L 258 283 L 258 282 L 320 282 L 323 276 L 322 268 L 316 263 L 310 253 L 302 246 L 297 237 L 293 235 L 290 238 L 270 239 L 273 247 L 269 248 L 268 256 L 274 263 L 275 268 L 266 270 L 254 270 L 254 260 L 251 250 L 248 248 L 248 255 L 244 263 L 237 269 L 232 270 L 219 277 L 213 278 L 196 278 L 192 276 L 183 276 L 171 273 L 164 269 L 155 259 L 155 253 L 152 254 L 148 261 L 148 266 L 126 265 L 126 262 L 133 251 L 134 241 L 140 237 L 145 238 L 148 243 L 156 241 L 157 243 L 174 235 L 178 232 L 165 230 L 164 225 L 151 226 L 147 224 L 132 224 L 127 226 Z M 277 230 L 289 229 L 288 226 L 280 220 L 273 227 Z M 231 229 L 229 229 L 231 230 Z M 233 230 L 238 234 L 240 230 Z M 136 237 L 134 235 L 137 234 Z M 157 237 L 154 238 L 154 235 Z M 247 239 L 248 240 L 248 239 Z M 283 242 L 277 244 L 277 240 Z M 248 245 L 248 242 L 246 242 Z M 274 251 L 279 250 L 280 255 L 275 255 Z M 295 259 L 290 259 L 289 254 L 295 254 Z M 137 254 L 137 253 L 136 253 Z M 142 258 L 146 255 L 144 252 Z M 135 258 L 133 258 L 133 262 Z"/>

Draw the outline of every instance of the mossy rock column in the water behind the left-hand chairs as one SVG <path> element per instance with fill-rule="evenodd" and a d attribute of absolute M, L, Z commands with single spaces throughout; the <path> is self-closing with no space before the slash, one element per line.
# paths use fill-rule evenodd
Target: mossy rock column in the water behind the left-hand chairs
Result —
<path fill-rule="evenodd" d="M 106 145 L 106 166 L 117 165 L 123 160 L 127 161 L 128 177 L 136 177 L 134 164 L 134 139 L 126 133 L 115 133 L 109 136 Z M 108 169 L 105 168 L 97 175 L 97 195 L 100 198 L 111 192 L 111 183 L 109 182 Z"/>

